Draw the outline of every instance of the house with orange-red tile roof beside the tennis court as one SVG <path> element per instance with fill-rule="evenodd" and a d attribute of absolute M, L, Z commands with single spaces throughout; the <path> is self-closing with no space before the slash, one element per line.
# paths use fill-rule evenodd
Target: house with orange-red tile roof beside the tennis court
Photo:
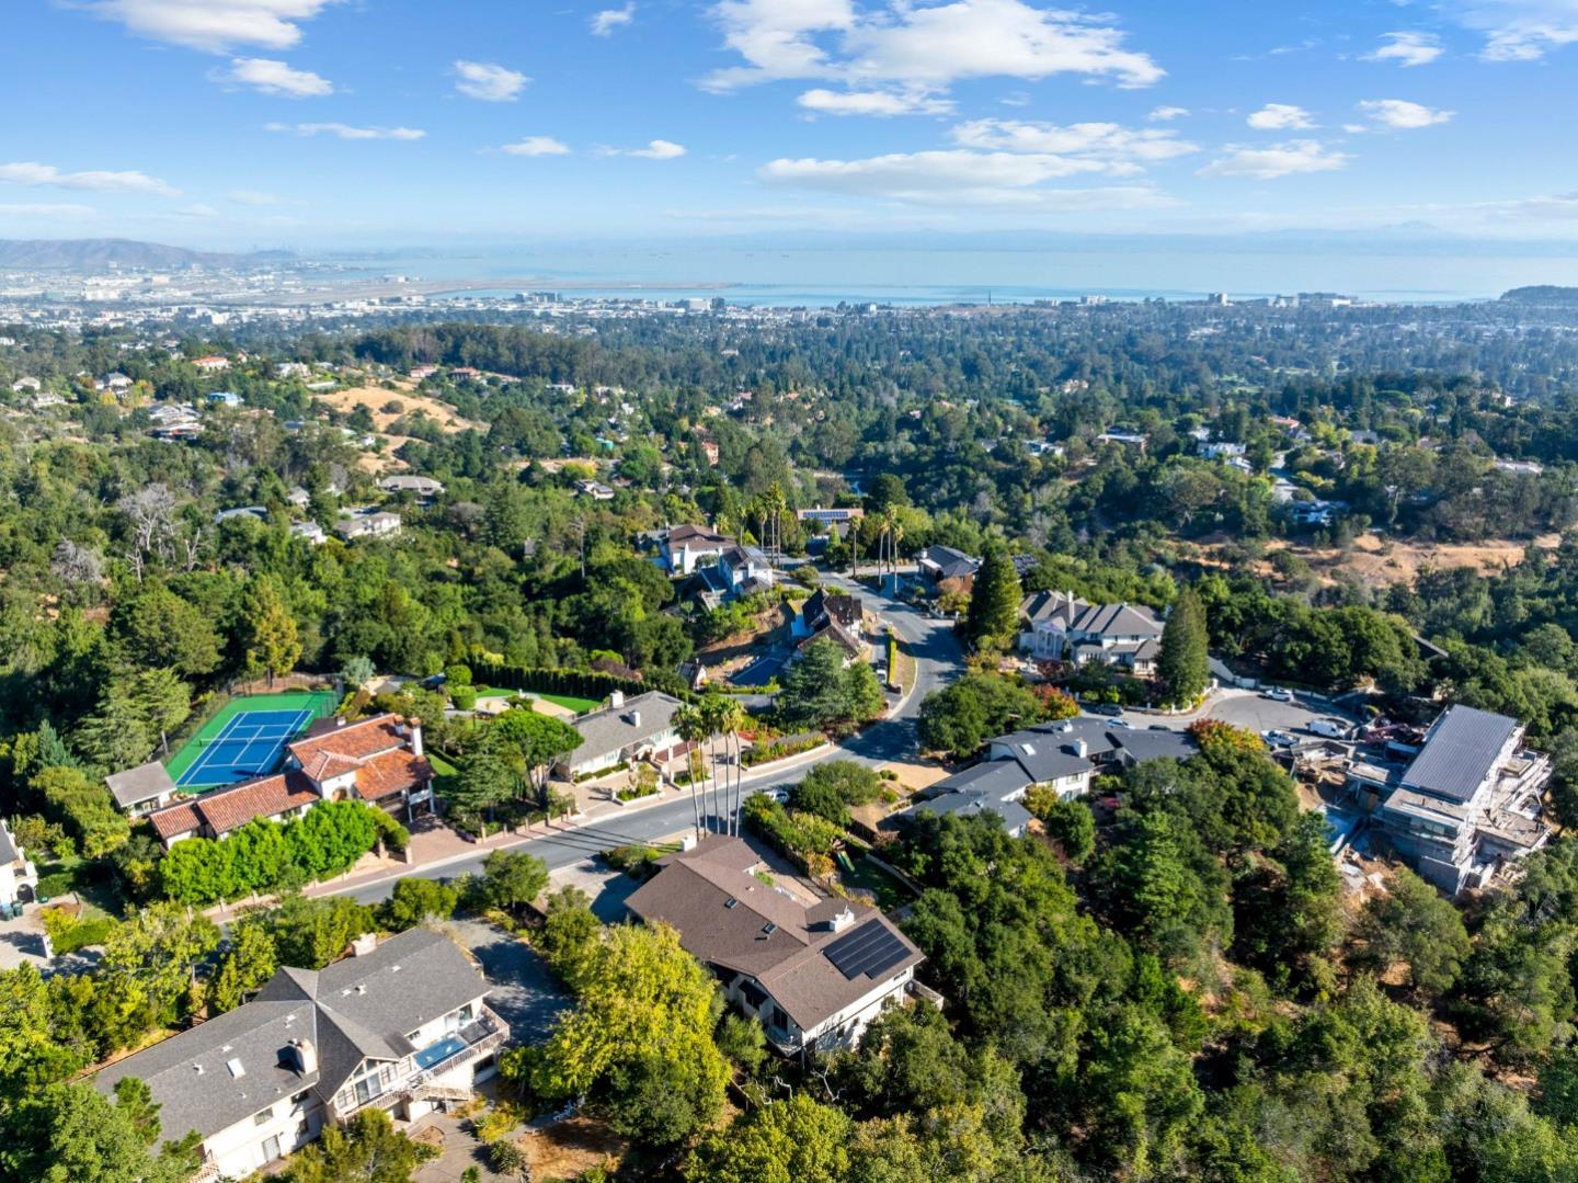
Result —
<path fill-rule="evenodd" d="M 169 850 L 181 839 L 222 839 L 257 818 L 301 817 L 319 801 L 366 801 L 404 821 L 432 812 L 421 723 L 393 714 L 323 719 L 286 747 L 278 772 L 156 809 L 147 820 Z"/>

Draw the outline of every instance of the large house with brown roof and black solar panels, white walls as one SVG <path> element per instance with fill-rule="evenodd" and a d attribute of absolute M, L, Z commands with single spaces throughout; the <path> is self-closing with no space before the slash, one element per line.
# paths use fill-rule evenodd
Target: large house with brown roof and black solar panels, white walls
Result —
<path fill-rule="evenodd" d="M 884 1008 L 936 997 L 915 981 L 923 954 L 879 910 L 761 870 L 743 839 L 709 834 L 663 859 L 626 907 L 672 926 L 783 1055 L 854 1047 Z"/>

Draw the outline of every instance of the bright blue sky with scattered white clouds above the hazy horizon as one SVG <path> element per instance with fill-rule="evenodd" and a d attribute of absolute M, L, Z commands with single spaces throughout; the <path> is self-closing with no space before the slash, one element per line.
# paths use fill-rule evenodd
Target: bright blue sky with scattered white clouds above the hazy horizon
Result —
<path fill-rule="evenodd" d="M 8 0 L 0 237 L 1578 237 L 1578 0 Z"/>

